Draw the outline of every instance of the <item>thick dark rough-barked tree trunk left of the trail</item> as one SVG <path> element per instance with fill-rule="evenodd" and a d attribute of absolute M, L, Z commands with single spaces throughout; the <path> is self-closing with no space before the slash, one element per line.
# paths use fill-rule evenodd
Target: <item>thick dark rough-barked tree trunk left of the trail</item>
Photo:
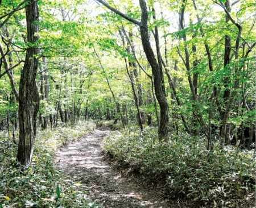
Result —
<path fill-rule="evenodd" d="M 26 60 L 20 76 L 19 85 L 19 146 L 17 160 L 24 167 L 31 164 L 34 138 L 36 135 L 36 115 L 39 110 L 39 94 L 36 86 L 36 72 L 38 70 L 39 49 L 36 41 L 39 37 L 38 4 L 32 2 L 26 6 L 27 40 L 32 47 L 27 49 Z"/>

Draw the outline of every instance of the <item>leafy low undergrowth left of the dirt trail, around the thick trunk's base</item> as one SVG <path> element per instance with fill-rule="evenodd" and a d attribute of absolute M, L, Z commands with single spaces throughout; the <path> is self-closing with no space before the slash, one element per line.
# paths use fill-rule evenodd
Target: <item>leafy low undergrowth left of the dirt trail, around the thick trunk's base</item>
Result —
<path fill-rule="evenodd" d="M 39 131 L 30 168 L 23 170 L 16 162 L 17 147 L 0 138 L 0 207 L 101 207 L 86 192 L 63 176 L 53 165 L 54 151 L 95 128 L 91 122 L 74 129 L 61 126 Z M 5 146 L 3 145 L 5 144 Z"/>

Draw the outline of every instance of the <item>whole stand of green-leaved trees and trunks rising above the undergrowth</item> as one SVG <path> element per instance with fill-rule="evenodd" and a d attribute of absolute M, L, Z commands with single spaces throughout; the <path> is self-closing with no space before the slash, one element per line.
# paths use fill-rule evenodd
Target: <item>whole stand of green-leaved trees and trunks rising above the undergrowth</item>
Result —
<path fill-rule="evenodd" d="M 0 126 L 22 164 L 36 126 L 79 119 L 253 141 L 254 2 L 95 2 L 1 2 Z"/>

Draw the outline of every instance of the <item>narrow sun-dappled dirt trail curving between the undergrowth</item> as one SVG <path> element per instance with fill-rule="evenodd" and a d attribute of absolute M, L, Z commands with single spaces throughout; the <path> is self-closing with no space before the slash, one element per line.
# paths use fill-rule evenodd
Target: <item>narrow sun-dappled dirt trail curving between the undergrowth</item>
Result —
<path fill-rule="evenodd" d="M 80 141 L 56 152 L 55 163 L 69 176 L 80 181 L 83 189 L 90 190 L 90 198 L 98 199 L 104 207 L 179 207 L 159 200 L 154 190 L 148 190 L 139 182 L 123 176 L 104 159 L 101 141 L 108 130 L 95 130 Z"/>

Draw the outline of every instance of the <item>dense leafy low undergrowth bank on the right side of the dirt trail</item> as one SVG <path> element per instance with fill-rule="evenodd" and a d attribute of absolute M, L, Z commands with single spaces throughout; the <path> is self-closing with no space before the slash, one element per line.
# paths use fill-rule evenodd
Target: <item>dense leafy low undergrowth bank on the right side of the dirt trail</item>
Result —
<path fill-rule="evenodd" d="M 162 142 L 154 128 L 147 128 L 143 135 L 134 129 L 115 131 L 103 146 L 115 159 L 153 180 L 164 177 L 171 198 L 210 207 L 241 207 L 248 196 L 253 201 L 255 152 L 221 149 L 217 141 L 213 143 L 213 151 L 207 151 L 205 138 L 187 134 L 170 135 L 168 142 Z"/>

